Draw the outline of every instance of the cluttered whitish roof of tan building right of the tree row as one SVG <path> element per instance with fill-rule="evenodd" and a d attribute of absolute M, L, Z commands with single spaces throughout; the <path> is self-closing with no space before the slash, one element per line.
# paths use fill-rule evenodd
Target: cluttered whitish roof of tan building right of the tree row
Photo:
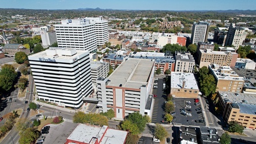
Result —
<path fill-rule="evenodd" d="M 244 81 L 244 78 L 239 77 L 239 75 L 229 66 L 209 65 L 208 68 L 210 73 L 212 73 L 217 80 Z"/>

